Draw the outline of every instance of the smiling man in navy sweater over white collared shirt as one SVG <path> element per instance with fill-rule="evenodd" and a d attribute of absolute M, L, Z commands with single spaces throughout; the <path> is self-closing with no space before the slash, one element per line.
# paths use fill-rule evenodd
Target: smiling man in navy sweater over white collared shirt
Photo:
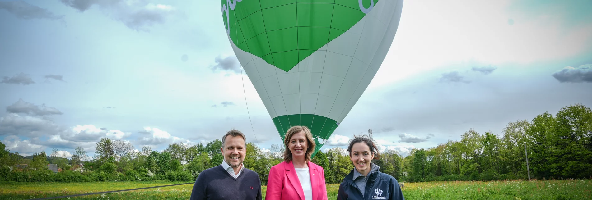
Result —
<path fill-rule="evenodd" d="M 246 138 L 237 130 L 222 137 L 222 164 L 206 169 L 197 176 L 191 200 L 261 199 L 261 180 L 253 170 L 244 168 Z"/>

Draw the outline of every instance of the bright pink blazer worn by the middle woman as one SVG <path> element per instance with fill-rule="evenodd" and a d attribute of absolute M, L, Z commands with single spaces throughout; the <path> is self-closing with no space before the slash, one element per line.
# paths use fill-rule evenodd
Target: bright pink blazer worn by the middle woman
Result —
<path fill-rule="evenodd" d="M 308 162 L 313 200 L 327 200 L 327 187 L 323 167 Z M 304 191 L 294 169 L 294 163 L 281 162 L 271 167 L 267 182 L 265 200 L 294 199 L 305 200 Z"/>

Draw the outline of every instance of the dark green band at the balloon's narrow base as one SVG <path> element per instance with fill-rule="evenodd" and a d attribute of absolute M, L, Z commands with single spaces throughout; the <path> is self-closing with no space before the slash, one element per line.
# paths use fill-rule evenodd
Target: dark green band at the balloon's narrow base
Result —
<path fill-rule="evenodd" d="M 313 120 L 314 119 L 314 120 Z M 284 136 L 288 129 L 294 125 L 302 125 L 310 128 L 311 133 L 313 133 L 313 139 L 316 144 L 314 148 L 314 153 L 311 157 L 314 157 L 317 154 L 317 151 L 323 147 L 323 144 L 329 139 L 333 131 L 337 128 L 339 123 L 337 121 L 332 120 L 330 118 L 326 118 L 319 115 L 313 114 L 296 114 L 296 115 L 282 115 L 272 119 L 274 121 L 275 127 L 279 130 L 284 130 L 279 132 L 279 136 L 282 138 L 282 142 L 285 140 Z M 289 120 L 289 124 L 287 124 Z M 316 121 L 316 125 L 308 125 Z"/>

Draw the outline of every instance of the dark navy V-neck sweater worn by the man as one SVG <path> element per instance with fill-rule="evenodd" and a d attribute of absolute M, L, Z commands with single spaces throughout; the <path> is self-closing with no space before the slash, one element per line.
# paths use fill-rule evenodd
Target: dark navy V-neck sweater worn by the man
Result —
<path fill-rule="evenodd" d="M 190 199 L 261 200 L 261 180 L 256 172 L 247 168 L 235 179 L 218 165 L 197 176 Z"/>

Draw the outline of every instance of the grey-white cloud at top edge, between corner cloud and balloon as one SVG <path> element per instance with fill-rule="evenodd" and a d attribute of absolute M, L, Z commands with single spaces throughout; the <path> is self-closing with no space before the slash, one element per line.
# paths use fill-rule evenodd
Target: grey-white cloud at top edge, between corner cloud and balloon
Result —
<path fill-rule="evenodd" d="M 136 31 L 149 30 L 146 27 L 163 23 L 175 11 L 170 5 L 146 4 L 145 1 L 126 0 L 61 0 L 62 4 L 79 12 L 85 12 L 94 5 L 101 8 L 106 15 L 123 22 L 128 28 Z"/>

